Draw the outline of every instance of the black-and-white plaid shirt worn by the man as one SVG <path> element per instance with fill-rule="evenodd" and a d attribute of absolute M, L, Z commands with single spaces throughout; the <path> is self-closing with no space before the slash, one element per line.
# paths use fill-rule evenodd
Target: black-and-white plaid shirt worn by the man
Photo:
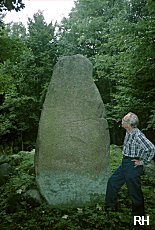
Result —
<path fill-rule="evenodd" d="M 128 157 L 139 157 L 144 165 L 154 157 L 155 145 L 138 128 L 134 128 L 131 132 L 126 132 L 122 153 Z"/>

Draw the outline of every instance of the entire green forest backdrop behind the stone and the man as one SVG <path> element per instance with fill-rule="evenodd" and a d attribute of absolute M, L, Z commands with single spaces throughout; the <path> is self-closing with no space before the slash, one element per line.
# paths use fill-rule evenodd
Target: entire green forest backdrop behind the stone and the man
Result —
<path fill-rule="evenodd" d="M 13 1 L 0 1 L 0 12 L 24 7 L 6 2 Z M 61 24 L 47 24 L 40 11 L 27 27 L 5 24 L 0 14 L 1 153 L 35 147 L 53 67 L 59 57 L 73 54 L 93 63 L 111 143 L 122 143 L 120 120 L 129 111 L 155 142 L 155 1 L 77 0 Z"/>

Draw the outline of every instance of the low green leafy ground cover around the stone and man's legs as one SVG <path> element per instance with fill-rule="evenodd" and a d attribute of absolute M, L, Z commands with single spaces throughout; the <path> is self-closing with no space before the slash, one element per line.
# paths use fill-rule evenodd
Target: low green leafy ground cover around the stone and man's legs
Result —
<path fill-rule="evenodd" d="M 119 212 L 106 213 L 104 199 L 94 206 L 72 209 L 56 209 L 46 202 L 41 205 L 25 199 L 24 192 L 35 186 L 35 176 L 29 173 L 34 155 L 19 153 L 9 156 L 14 171 L 7 183 L 0 187 L 0 230 L 112 230 L 155 229 L 155 179 L 142 176 L 146 213 L 150 226 L 133 226 L 131 200 L 126 186 L 119 193 Z M 121 162 L 121 148 L 111 146 L 110 167 L 113 172 Z"/>

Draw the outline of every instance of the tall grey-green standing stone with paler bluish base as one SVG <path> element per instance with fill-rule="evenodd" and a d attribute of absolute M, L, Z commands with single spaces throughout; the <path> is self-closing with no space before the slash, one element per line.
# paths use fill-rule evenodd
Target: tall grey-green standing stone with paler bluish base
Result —
<path fill-rule="evenodd" d="M 109 164 L 105 108 L 82 55 L 61 58 L 43 105 L 36 144 L 36 180 L 47 202 L 79 207 L 102 196 Z"/>

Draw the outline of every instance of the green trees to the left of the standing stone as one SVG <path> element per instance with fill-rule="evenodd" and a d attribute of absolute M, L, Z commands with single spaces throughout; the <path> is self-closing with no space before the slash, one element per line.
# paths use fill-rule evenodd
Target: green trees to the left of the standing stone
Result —
<path fill-rule="evenodd" d="M 22 24 L 15 23 L 2 36 L 13 47 L 6 41 L 0 65 L 4 151 L 6 141 L 16 151 L 35 145 L 40 111 L 56 62 L 55 26 L 47 25 L 41 12 L 33 19 L 29 19 L 27 33 Z"/>

